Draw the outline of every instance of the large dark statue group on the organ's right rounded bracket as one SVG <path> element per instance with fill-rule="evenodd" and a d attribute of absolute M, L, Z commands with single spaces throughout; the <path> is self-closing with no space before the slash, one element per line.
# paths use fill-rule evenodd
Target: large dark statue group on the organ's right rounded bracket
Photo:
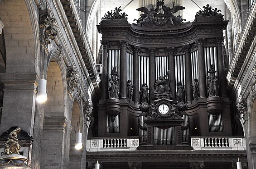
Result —
<path fill-rule="evenodd" d="M 218 77 L 215 75 L 215 72 L 214 66 L 211 64 L 208 70 L 209 76 L 207 77 L 207 91 L 209 97 L 219 96 Z"/>

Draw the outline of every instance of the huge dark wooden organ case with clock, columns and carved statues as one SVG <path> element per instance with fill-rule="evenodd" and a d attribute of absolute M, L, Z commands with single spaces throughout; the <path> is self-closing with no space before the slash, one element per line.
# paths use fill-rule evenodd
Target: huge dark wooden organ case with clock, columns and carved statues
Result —
<path fill-rule="evenodd" d="M 140 150 L 189 149 L 190 136 L 232 135 L 223 30 L 207 6 L 184 22 L 159 0 L 137 23 L 116 8 L 102 34 L 99 137 L 140 137 Z M 159 12 L 161 10 L 161 12 Z M 172 12 L 170 12 L 172 11 Z M 169 148 L 168 148 L 169 147 Z"/>

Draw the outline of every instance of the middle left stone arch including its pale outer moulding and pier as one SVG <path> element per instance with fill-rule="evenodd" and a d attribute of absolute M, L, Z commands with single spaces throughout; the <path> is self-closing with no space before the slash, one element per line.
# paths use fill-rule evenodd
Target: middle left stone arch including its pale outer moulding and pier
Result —
<path fill-rule="evenodd" d="M 51 50 L 45 59 L 43 74 L 47 80 L 47 98 L 43 116 L 43 135 L 41 142 L 40 168 L 52 166 L 63 168 L 65 166 L 65 149 L 68 143 L 67 134 L 67 112 L 68 92 L 66 80 L 66 65 L 62 59 L 61 48 Z M 49 151 L 49 149 L 54 151 Z M 55 160 L 53 161 L 53 156 Z M 58 156 L 58 157 L 57 157 Z M 58 160 L 56 160 L 58 159 Z"/>

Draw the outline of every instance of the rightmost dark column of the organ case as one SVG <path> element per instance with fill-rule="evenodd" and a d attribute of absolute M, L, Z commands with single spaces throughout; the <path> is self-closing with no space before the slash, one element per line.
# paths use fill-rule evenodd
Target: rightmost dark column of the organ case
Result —
<path fill-rule="evenodd" d="M 224 58 L 223 58 L 223 41 L 224 41 L 224 37 L 217 38 L 219 96 L 227 97 L 226 78 L 225 78 L 226 73 L 225 73 L 225 64 L 224 64 Z"/>

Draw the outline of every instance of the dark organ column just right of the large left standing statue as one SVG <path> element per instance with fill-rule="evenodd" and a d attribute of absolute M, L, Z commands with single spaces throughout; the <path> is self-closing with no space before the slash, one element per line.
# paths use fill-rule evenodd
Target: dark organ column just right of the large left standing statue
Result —
<path fill-rule="evenodd" d="M 121 56 L 120 56 L 120 98 L 126 99 L 126 87 L 127 87 L 127 57 L 126 57 L 126 45 L 127 42 L 120 41 Z"/>

